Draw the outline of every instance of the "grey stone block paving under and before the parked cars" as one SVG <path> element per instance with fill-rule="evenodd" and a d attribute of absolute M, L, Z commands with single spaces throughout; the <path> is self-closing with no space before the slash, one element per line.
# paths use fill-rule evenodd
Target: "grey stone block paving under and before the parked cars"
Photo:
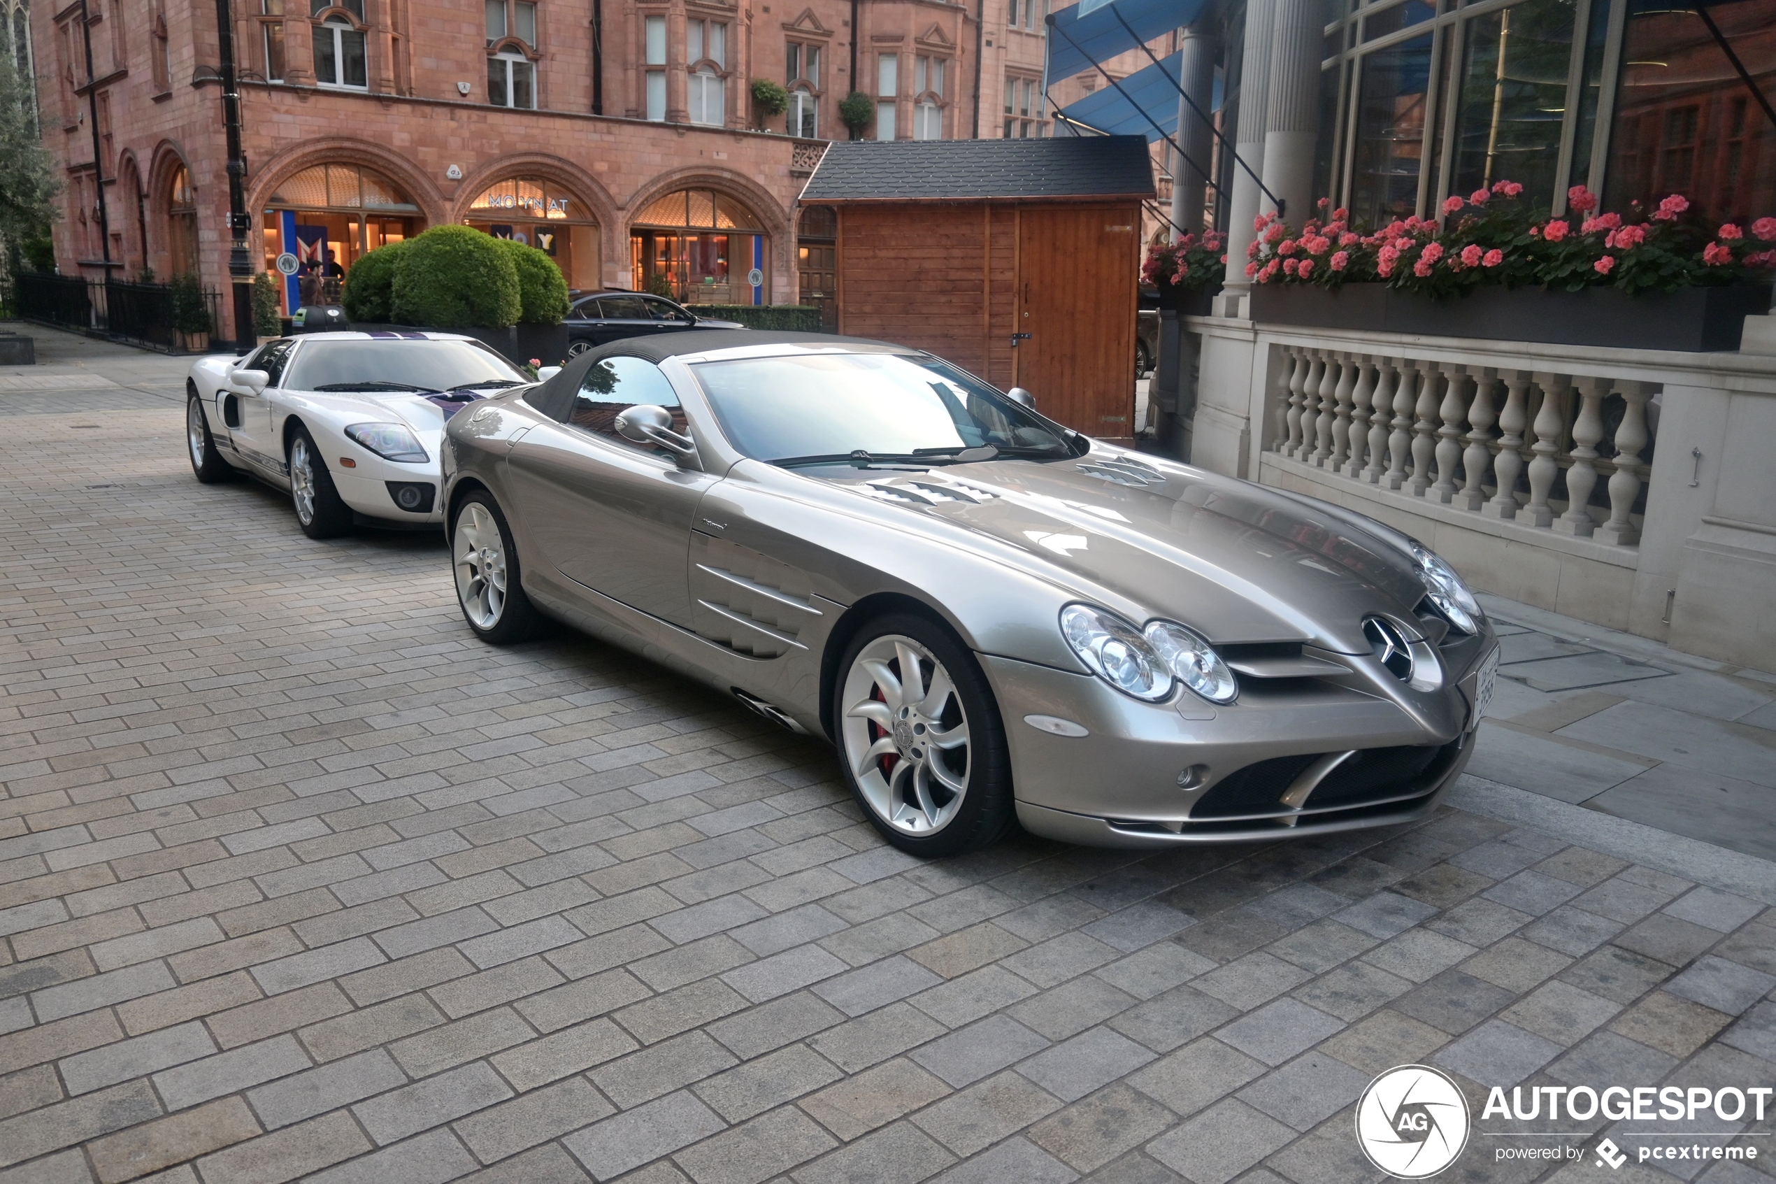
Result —
<path fill-rule="evenodd" d="M 1495 1157 L 1653 1127 L 1767 1152 L 1678 1179 L 1776 1172 L 1776 1115 L 1479 1120 L 1776 1085 L 1769 864 L 1460 809 L 922 864 L 829 749 L 584 637 L 476 643 L 439 540 L 199 486 L 170 366 L 0 391 L 0 1184 L 1336 1184 L 1408 1062 L 1474 1106 L 1442 1179 L 1669 1180 Z"/>

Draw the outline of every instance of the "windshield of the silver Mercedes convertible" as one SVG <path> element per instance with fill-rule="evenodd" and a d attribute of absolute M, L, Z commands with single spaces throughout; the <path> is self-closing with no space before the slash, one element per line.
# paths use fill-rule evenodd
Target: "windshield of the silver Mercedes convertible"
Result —
<path fill-rule="evenodd" d="M 755 460 L 941 460 L 984 446 L 1073 454 L 1053 424 L 932 357 L 810 353 L 694 369 L 721 430 Z"/>

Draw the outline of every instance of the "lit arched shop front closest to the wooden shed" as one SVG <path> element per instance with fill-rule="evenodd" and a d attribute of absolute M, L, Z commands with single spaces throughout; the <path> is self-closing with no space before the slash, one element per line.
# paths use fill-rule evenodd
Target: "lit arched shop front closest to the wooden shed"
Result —
<path fill-rule="evenodd" d="M 655 197 L 629 229 L 638 291 L 684 304 L 765 304 L 771 236 L 744 204 L 712 190 Z"/>

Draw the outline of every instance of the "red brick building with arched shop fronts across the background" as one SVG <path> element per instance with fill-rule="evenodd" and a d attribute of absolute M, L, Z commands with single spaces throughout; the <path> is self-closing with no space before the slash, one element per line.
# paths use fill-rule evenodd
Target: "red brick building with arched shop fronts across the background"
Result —
<path fill-rule="evenodd" d="M 350 268 L 464 222 L 551 250 L 574 288 L 664 275 L 696 302 L 796 300 L 794 201 L 821 140 L 847 135 L 838 101 L 876 96 L 872 138 L 1046 135 L 1043 2 L 233 0 L 254 266 Z M 213 0 L 37 4 L 32 21 L 67 170 L 62 273 L 226 289 Z M 758 78 L 792 92 L 787 114 L 760 119 Z"/>

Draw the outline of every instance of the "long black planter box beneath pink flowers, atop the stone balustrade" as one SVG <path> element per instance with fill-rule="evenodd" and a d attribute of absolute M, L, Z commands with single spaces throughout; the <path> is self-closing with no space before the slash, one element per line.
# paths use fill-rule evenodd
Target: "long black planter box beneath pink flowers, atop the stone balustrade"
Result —
<path fill-rule="evenodd" d="M 1447 300 L 1385 284 L 1252 288 L 1252 320 L 1266 325 L 1689 353 L 1737 350 L 1746 316 L 1769 309 L 1771 286 L 1755 282 L 1639 296 L 1616 288 L 1476 288 Z"/>

